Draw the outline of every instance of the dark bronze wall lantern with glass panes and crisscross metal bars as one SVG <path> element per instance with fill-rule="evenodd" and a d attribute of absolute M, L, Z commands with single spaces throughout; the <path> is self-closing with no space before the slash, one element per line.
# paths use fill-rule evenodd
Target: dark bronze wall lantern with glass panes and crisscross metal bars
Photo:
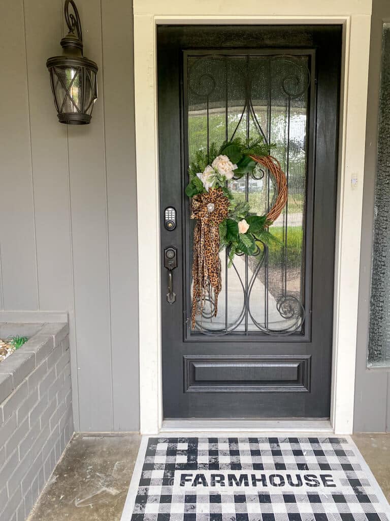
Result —
<path fill-rule="evenodd" d="M 74 14 L 69 14 L 69 4 Z M 73 0 L 65 2 L 69 33 L 62 38 L 62 56 L 46 61 L 51 91 L 60 123 L 87 125 L 97 100 L 96 63 L 83 56 L 83 35 L 79 12 Z"/>

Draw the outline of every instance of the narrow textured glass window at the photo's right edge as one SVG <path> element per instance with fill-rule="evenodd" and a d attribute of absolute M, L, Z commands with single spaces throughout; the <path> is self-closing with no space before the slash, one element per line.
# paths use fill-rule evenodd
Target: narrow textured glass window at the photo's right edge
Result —
<path fill-rule="evenodd" d="M 383 26 L 372 249 L 369 367 L 390 367 L 390 24 Z"/>

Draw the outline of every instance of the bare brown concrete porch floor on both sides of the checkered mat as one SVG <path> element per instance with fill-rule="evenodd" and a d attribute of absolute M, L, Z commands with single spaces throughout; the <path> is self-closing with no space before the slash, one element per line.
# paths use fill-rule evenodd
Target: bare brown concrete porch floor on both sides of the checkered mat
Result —
<path fill-rule="evenodd" d="M 141 437 L 73 437 L 29 521 L 119 521 Z M 390 434 L 353 436 L 390 501 Z"/>

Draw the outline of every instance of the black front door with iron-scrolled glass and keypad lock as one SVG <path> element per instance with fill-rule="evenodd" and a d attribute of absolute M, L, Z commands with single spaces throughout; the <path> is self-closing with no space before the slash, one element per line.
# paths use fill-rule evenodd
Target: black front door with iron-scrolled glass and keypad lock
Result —
<path fill-rule="evenodd" d="M 341 26 L 157 36 L 164 418 L 329 418 Z M 218 313 L 192 327 L 188 165 L 236 137 L 275 145 L 288 203 L 277 241 L 231 267 L 220 252 Z M 229 186 L 258 215 L 275 200 L 264 168 Z"/>

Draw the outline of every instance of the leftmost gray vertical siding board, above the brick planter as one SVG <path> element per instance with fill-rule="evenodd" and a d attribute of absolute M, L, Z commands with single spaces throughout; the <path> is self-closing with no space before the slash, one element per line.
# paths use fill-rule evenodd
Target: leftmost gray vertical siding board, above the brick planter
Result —
<path fill-rule="evenodd" d="M 7 11 L 6 23 L 0 51 L 2 70 L 7 71 L 0 75 L 2 301 L 6 309 L 37 309 L 35 205 L 24 12 L 21 2 L 8 2 L 4 8 Z M 15 234 L 18 240 L 15 240 Z"/>

